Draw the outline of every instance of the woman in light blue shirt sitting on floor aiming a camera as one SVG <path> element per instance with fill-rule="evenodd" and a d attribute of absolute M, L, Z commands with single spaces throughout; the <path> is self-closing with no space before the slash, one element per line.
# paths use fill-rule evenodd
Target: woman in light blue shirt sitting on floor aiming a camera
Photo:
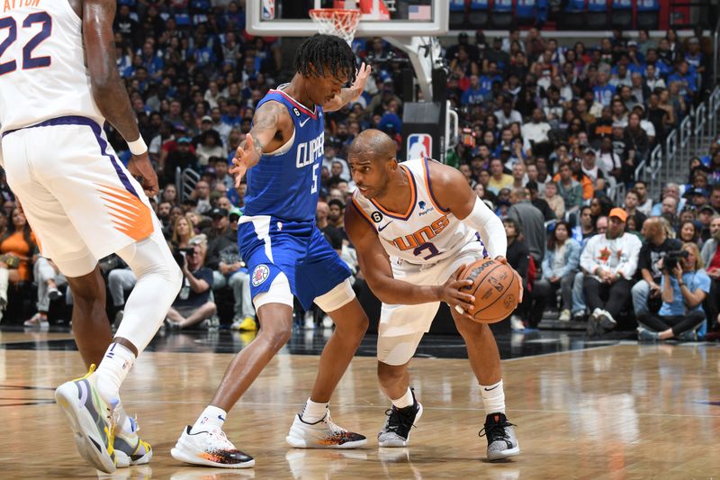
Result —
<path fill-rule="evenodd" d="M 696 331 L 705 322 L 702 303 L 710 292 L 710 277 L 703 269 L 698 245 L 684 243 L 680 250 L 668 252 L 661 263 L 662 307 L 657 315 L 648 312 L 638 317 L 637 338 L 696 340 Z"/>

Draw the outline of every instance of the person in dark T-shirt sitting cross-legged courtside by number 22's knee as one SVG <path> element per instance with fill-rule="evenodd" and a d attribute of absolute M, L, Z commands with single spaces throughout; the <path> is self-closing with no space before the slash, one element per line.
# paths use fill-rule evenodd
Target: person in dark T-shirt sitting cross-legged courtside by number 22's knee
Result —
<path fill-rule="evenodd" d="M 183 271 L 183 285 L 167 312 L 166 322 L 179 330 L 211 318 L 217 307 L 210 300 L 212 270 L 202 266 L 201 246 L 175 249 L 173 257 Z"/>

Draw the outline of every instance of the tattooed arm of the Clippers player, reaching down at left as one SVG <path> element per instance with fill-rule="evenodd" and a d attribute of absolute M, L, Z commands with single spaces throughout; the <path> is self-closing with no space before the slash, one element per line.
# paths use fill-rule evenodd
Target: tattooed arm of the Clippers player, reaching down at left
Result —
<path fill-rule="evenodd" d="M 255 167 L 263 153 L 279 149 L 290 140 L 294 128 L 290 113 L 283 104 L 266 102 L 260 105 L 253 116 L 253 128 L 235 150 L 235 158 L 229 168 L 229 172 L 235 175 L 236 188 L 247 169 Z"/>

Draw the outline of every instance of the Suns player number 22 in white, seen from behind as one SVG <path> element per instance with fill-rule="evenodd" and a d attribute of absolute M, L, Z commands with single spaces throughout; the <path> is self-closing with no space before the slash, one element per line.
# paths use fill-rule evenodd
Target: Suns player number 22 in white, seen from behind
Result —
<path fill-rule="evenodd" d="M 80 354 L 86 364 L 99 364 L 60 385 L 55 398 L 81 456 L 108 473 L 152 456 L 121 408 L 119 390 L 182 281 L 148 202 L 157 176 L 118 75 L 115 8 L 115 0 L 28 0 L 5 2 L 0 13 L 7 181 L 42 255 L 67 276 Z M 128 142 L 128 168 L 103 133 L 105 121 Z M 97 266 L 113 252 L 138 277 L 114 339 Z"/>

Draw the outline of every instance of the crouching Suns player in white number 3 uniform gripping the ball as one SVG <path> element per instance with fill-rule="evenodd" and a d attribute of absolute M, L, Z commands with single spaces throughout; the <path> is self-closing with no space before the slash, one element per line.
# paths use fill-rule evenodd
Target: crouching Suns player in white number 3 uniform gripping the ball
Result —
<path fill-rule="evenodd" d="M 473 296 L 460 290 L 473 282 L 457 279 L 475 260 L 490 256 L 506 262 L 500 218 L 455 168 L 429 158 L 399 164 L 395 142 L 382 131 L 362 131 L 347 159 L 357 191 L 346 209 L 345 228 L 367 285 L 383 302 L 378 376 L 392 408 L 379 445 L 408 445 L 410 429 L 422 415 L 408 364 L 440 302 L 446 302 L 480 384 L 488 458 L 518 455 L 513 425 L 505 417 L 498 346 L 488 325 L 460 313 L 473 310 Z"/>

